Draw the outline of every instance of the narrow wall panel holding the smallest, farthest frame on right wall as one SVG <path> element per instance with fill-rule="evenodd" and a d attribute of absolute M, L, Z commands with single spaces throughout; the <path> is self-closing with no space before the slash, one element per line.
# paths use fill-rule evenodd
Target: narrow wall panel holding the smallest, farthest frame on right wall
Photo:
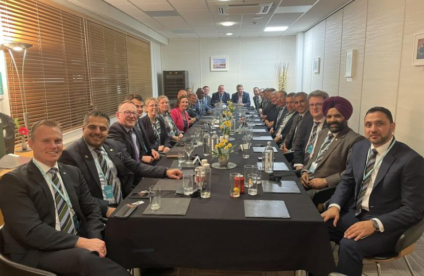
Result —
<path fill-rule="evenodd" d="M 311 75 L 311 91 L 316 89 L 322 89 L 322 76 L 324 72 L 324 47 L 325 47 L 325 20 L 320 22 L 314 27 L 314 37 L 312 46 L 312 62 L 315 58 L 320 58 L 320 70 L 319 73 L 314 73 L 312 70 Z"/>

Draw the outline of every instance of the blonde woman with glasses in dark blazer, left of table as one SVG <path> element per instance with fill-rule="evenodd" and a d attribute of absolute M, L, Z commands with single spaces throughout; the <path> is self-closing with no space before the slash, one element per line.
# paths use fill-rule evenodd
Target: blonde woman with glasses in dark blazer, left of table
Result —
<path fill-rule="evenodd" d="M 166 123 L 157 113 L 159 107 L 158 102 L 156 98 L 147 98 L 145 103 L 147 115 L 140 121 L 146 130 L 150 147 L 157 151 L 167 153 L 172 146 Z"/>

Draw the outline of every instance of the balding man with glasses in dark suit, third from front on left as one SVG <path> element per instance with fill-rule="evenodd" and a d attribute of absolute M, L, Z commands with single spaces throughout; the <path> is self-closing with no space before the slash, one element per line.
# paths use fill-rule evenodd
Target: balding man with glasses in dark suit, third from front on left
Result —
<path fill-rule="evenodd" d="M 116 118 L 117 122 L 109 128 L 109 139 L 117 141 L 137 162 L 153 164 L 159 160 L 159 153 L 150 147 L 146 130 L 138 124 L 136 107 L 131 101 L 118 106 Z"/>

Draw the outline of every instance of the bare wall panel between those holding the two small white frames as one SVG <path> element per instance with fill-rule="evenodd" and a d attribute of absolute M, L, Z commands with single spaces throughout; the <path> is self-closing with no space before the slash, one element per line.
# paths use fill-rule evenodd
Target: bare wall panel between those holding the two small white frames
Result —
<path fill-rule="evenodd" d="M 322 90 L 330 96 L 337 96 L 339 94 L 343 10 L 328 17 L 326 21 Z"/>

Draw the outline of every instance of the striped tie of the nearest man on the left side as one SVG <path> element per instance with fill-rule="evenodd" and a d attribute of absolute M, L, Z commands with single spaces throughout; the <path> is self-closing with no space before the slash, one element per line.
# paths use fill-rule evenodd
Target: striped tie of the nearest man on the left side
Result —
<path fill-rule="evenodd" d="M 52 174 L 52 181 L 54 185 L 56 185 L 57 189 L 63 192 L 62 188 L 62 182 L 60 181 L 59 177 L 57 176 L 58 169 L 57 168 L 51 168 L 49 170 L 49 173 Z M 59 194 L 59 192 L 56 189 L 53 189 L 54 195 L 55 195 L 55 203 L 56 203 L 56 209 L 57 209 L 57 215 L 59 217 L 60 222 L 60 229 L 63 232 L 69 233 L 69 234 L 75 234 L 75 226 L 72 223 L 72 218 L 70 217 L 70 210 L 69 206 L 66 203 L 66 201 L 62 198 L 62 196 Z"/>

